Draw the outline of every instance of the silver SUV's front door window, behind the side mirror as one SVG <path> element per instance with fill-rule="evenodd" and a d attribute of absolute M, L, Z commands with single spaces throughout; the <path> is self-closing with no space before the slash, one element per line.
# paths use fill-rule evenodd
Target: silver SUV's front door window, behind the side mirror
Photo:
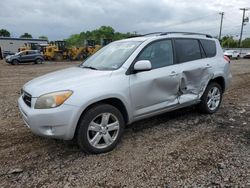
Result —
<path fill-rule="evenodd" d="M 137 57 L 137 61 L 139 60 L 149 60 L 152 69 L 172 65 L 173 49 L 171 40 L 161 40 L 149 44 Z"/>

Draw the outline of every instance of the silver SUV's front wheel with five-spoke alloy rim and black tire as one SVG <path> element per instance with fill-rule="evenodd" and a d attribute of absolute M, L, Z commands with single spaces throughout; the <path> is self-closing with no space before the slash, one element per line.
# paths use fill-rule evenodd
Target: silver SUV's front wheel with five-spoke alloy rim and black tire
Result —
<path fill-rule="evenodd" d="M 105 153 L 119 143 L 124 129 L 121 112 L 114 106 L 99 104 L 90 108 L 81 118 L 77 142 L 86 153 Z"/>

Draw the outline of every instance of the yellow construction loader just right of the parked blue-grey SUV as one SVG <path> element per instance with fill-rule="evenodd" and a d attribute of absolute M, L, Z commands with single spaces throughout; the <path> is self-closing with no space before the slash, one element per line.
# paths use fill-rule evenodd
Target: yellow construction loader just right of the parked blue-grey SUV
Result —
<path fill-rule="evenodd" d="M 68 58 L 68 49 L 65 41 L 54 41 L 44 47 L 43 55 L 46 60 L 62 61 Z"/>

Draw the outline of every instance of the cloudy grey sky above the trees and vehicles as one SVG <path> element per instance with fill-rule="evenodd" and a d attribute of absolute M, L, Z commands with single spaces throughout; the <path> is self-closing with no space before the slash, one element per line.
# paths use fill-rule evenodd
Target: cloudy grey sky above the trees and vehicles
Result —
<path fill-rule="evenodd" d="M 222 36 L 237 38 L 242 21 L 239 8 L 250 8 L 249 0 L 1 0 L 0 29 L 7 29 L 12 37 L 28 32 L 49 40 L 102 25 L 118 32 L 189 31 L 216 36 L 219 13 L 225 12 Z M 250 37 L 250 23 L 244 26 L 245 37 Z"/>

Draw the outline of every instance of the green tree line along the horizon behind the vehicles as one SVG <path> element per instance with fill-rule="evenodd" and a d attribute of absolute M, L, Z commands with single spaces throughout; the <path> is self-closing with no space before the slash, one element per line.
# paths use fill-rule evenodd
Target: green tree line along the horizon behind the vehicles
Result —
<path fill-rule="evenodd" d="M 0 29 L 0 37 L 10 37 L 10 32 L 6 29 Z M 83 46 L 86 43 L 86 40 L 92 40 L 95 44 L 101 44 L 101 40 L 108 39 L 108 40 L 120 40 L 124 38 L 129 38 L 136 36 L 136 33 L 120 33 L 116 32 L 110 26 L 101 26 L 98 29 L 92 31 L 83 31 L 79 34 L 73 34 L 65 39 L 67 46 Z M 33 38 L 31 34 L 24 33 L 20 36 L 20 38 Z M 48 40 L 48 37 L 45 35 L 39 36 L 39 39 Z M 238 47 L 238 40 L 235 40 L 233 36 L 227 35 L 222 37 L 221 46 L 223 48 L 237 48 Z M 241 44 L 242 48 L 250 48 L 250 38 L 245 38 Z"/>

